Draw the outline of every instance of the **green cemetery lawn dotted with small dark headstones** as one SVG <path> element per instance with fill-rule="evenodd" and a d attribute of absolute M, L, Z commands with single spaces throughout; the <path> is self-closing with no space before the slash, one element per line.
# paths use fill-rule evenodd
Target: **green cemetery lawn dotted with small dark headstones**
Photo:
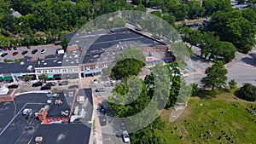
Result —
<path fill-rule="evenodd" d="M 235 104 L 238 107 L 235 107 Z M 255 144 L 256 111 L 251 106 L 256 107 L 256 103 L 242 101 L 231 93 L 224 93 L 208 100 L 191 97 L 188 106 L 176 122 L 169 122 L 172 109 L 164 110 L 161 118 L 165 121 L 166 127 L 163 130 L 155 130 L 155 133 L 166 140 L 167 144 Z M 246 108 L 252 110 L 254 115 L 247 112 Z M 211 130 L 212 135 L 209 135 L 207 130 Z"/>

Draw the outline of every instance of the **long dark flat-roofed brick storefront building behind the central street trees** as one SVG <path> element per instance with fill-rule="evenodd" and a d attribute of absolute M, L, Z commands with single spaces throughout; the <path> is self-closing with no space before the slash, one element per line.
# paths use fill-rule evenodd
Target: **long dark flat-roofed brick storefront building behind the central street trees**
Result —
<path fill-rule="evenodd" d="M 174 60 L 166 43 L 127 27 L 79 33 L 73 35 L 70 43 L 78 45 L 83 51 L 83 61 L 79 66 L 81 78 L 102 74 L 108 66 L 115 65 L 118 53 L 134 47 L 142 50 L 147 66 Z"/>

